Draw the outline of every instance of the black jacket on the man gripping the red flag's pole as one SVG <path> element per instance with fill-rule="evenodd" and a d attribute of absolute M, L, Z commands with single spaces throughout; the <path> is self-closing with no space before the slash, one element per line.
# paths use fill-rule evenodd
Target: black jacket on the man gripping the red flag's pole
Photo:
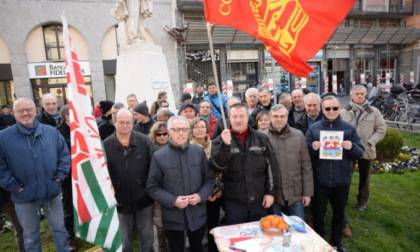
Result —
<path fill-rule="evenodd" d="M 225 199 L 237 203 L 262 202 L 265 194 L 275 195 L 278 181 L 276 154 L 266 135 L 250 127 L 246 148 L 232 133 L 231 145 L 221 136 L 213 140 L 210 165 L 223 173 Z"/>

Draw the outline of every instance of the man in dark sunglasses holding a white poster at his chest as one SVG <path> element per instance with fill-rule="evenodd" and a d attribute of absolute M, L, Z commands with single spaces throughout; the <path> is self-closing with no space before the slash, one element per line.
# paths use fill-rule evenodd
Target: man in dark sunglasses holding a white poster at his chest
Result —
<path fill-rule="evenodd" d="M 356 128 L 340 118 L 341 106 L 335 96 L 326 96 L 322 99 L 321 106 L 324 118 L 314 123 L 306 132 L 306 143 L 314 174 L 312 198 L 314 230 L 320 236 L 324 236 L 324 216 L 330 201 L 333 209 L 331 243 L 337 247 L 337 251 L 347 251 L 341 243 L 341 228 L 351 184 L 352 160 L 362 157 L 365 148 Z M 326 139 L 323 139 L 324 137 Z M 322 150 L 325 149 L 342 149 L 342 152 L 340 156 L 337 156 L 339 151 L 334 152 L 335 155 L 322 155 Z M 327 151 L 327 153 L 332 152 Z"/>

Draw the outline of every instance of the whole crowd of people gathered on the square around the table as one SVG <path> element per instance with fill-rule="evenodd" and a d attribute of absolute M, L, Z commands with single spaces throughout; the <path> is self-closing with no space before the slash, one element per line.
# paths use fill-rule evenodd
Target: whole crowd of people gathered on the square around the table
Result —
<path fill-rule="evenodd" d="M 158 251 L 218 251 L 210 230 L 257 221 L 267 214 L 312 220 L 325 235 L 332 206 L 331 244 L 346 251 L 351 236 L 345 208 L 352 173 L 360 173 L 357 208 L 369 199 L 375 145 L 385 122 L 356 85 L 342 108 L 334 94 L 320 97 L 295 89 L 274 104 L 268 88 L 249 88 L 245 101 L 198 83 L 170 111 L 165 91 L 150 109 L 136 95 L 122 102 L 101 101 L 94 109 L 115 198 L 123 251 L 138 234 L 141 251 L 151 251 L 153 225 Z M 222 103 L 219 103 L 219 100 Z M 44 94 L 1 106 L 0 211 L 9 215 L 20 251 L 41 251 L 43 210 L 58 251 L 75 251 L 71 188 L 70 117 L 67 105 Z M 341 132 L 339 158 L 322 155 L 325 132 Z M 321 154 L 320 154 L 321 153 Z M 22 158 L 24 157 L 24 158 Z M 305 207 L 311 218 L 305 218 Z M 224 214 L 222 214 L 224 213 Z M 223 216 L 223 218 L 222 218 Z"/>

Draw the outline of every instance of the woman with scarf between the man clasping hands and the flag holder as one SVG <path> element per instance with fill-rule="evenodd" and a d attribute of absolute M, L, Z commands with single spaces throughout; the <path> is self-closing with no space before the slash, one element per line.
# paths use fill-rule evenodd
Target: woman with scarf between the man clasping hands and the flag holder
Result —
<path fill-rule="evenodd" d="M 191 120 L 191 134 L 192 139 L 190 144 L 195 144 L 201 146 L 206 153 L 207 159 L 210 159 L 211 156 L 211 140 L 209 136 L 209 123 L 203 119 L 196 117 Z M 215 173 L 214 174 L 217 181 L 221 181 L 221 174 Z M 216 190 L 217 185 L 215 185 Z M 215 190 L 213 192 L 215 192 Z M 208 251 L 209 252 L 216 252 L 217 246 L 214 242 L 214 237 L 210 234 L 210 230 L 217 227 L 219 225 L 219 218 L 220 218 L 220 207 L 222 206 L 222 191 L 220 190 L 217 193 L 213 193 L 207 198 L 207 239 L 208 239 Z"/>

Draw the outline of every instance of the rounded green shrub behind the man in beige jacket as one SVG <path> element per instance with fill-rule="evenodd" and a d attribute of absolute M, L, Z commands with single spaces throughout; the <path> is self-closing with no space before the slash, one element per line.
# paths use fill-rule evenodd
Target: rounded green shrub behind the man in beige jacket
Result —
<path fill-rule="evenodd" d="M 394 160 L 403 147 L 403 138 L 397 130 L 387 129 L 384 139 L 376 145 L 376 156 L 379 160 Z"/>

